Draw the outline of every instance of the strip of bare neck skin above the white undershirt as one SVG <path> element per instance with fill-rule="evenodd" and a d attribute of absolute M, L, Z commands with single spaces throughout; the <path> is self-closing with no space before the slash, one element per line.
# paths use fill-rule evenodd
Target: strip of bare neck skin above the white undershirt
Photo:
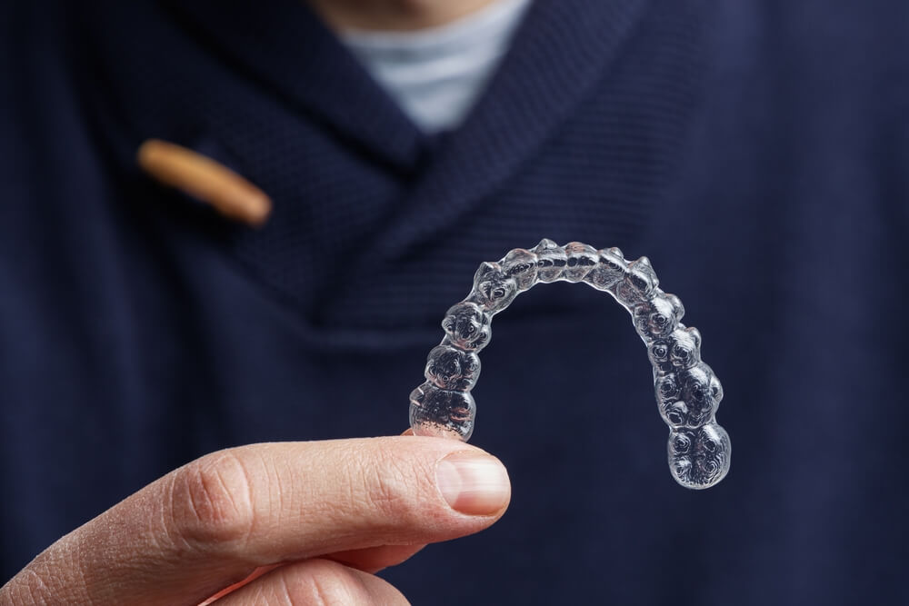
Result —
<path fill-rule="evenodd" d="M 307 0 L 336 31 L 410 31 L 445 25 L 495 0 Z"/>

